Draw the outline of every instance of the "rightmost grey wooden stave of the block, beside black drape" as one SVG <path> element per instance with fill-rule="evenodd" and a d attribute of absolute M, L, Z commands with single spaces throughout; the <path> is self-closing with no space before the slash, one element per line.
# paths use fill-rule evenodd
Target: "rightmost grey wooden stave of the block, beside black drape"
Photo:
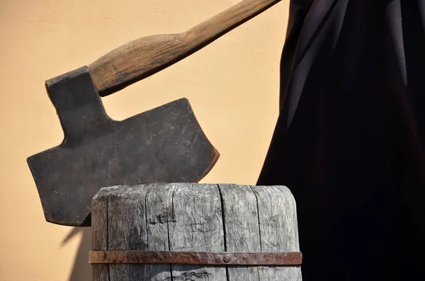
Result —
<path fill-rule="evenodd" d="M 297 252 L 298 227 L 295 199 L 285 186 L 251 186 L 259 210 L 261 251 Z M 260 280 L 301 281 L 299 266 L 261 266 Z"/>

